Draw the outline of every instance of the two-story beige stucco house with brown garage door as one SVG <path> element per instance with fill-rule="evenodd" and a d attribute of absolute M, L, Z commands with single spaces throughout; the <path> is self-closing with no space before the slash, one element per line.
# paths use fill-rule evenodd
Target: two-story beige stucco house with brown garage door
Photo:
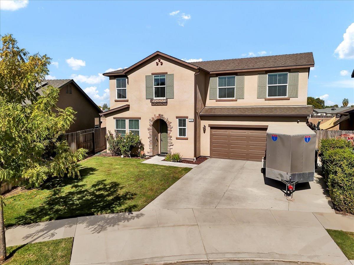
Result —
<path fill-rule="evenodd" d="M 155 52 L 109 77 L 107 130 L 147 155 L 262 160 L 269 124 L 306 123 L 312 53 L 187 63 Z"/>

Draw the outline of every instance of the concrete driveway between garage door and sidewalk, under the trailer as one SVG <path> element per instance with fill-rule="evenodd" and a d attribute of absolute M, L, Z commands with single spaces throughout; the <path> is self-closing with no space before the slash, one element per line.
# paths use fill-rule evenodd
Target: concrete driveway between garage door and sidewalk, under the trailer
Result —
<path fill-rule="evenodd" d="M 299 183 L 294 201 L 285 184 L 265 178 L 261 162 L 210 158 L 194 167 L 143 210 L 175 208 L 254 208 L 334 213 L 324 182 Z"/>

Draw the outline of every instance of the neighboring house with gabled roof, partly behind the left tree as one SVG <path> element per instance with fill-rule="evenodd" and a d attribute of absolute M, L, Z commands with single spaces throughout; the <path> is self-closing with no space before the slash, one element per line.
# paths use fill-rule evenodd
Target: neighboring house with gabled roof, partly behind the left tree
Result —
<path fill-rule="evenodd" d="M 75 83 L 74 80 L 44 80 L 37 92 L 42 95 L 42 89 L 45 89 L 47 86 L 59 88 L 59 97 L 57 102 L 58 108 L 72 107 L 74 111 L 77 112 L 75 114 L 76 119 L 70 126 L 67 133 L 93 129 L 95 127 L 99 128 L 100 113 L 102 110 L 95 104 L 95 102 L 92 101 L 92 99 L 90 99 L 84 90 L 82 90 L 78 84 Z"/>

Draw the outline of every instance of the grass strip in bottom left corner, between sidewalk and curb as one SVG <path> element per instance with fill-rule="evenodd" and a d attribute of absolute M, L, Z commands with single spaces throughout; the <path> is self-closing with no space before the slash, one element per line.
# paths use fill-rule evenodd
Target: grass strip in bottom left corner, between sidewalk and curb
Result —
<path fill-rule="evenodd" d="M 6 265 L 68 265 L 73 237 L 7 247 Z"/>

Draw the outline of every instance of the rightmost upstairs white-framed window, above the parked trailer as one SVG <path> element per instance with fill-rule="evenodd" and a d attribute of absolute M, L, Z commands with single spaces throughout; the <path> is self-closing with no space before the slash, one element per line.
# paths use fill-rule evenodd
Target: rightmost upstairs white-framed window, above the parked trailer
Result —
<path fill-rule="evenodd" d="M 268 73 L 267 98 L 287 97 L 288 73 Z"/>

